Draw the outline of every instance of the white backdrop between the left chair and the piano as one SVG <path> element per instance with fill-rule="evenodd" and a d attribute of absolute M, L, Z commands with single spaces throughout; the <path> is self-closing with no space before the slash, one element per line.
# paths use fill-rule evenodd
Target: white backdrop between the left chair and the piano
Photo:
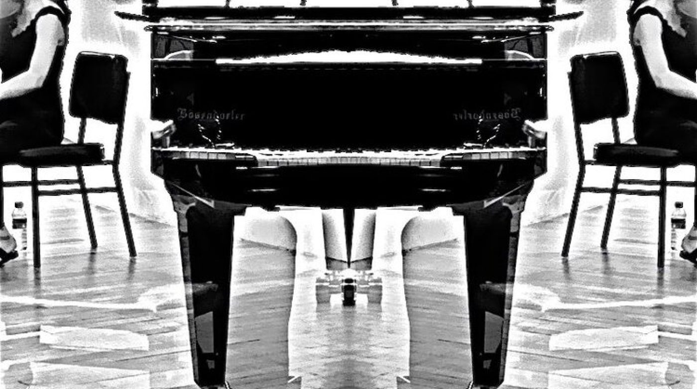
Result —
<path fill-rule="evenodd" d="M 65 68 L 61 78 L 66 107 L 73 63 L 79 51 L 100 51 L 128 57 L 131 78 L 121 154 L 126 203 L 132 214 L 174 223 L 175 216 L 169 196 L 164 191 L 161 180 L 150 173 L 150 132 L 157 129 L 160 123 L 150 120 L 150 44 L 148 33 L 144 31 L 146 24 L 125 21 L 114 15 L 116 10 L 139 13 L 141 2 L 68 1 L 72 10 L 72 20 Z M 77 125 L 77 120 L 66 118 L 66 137 L 77 137 Z M 102 141 L 107 145 L 113 143 L 112 129 L 107 129 L 98 122 L 90 122 L 87 128 L 88 141 Z M 107 154 L 110 151 L 107 150 Z M 86 180 L 89 184 L 99 185 L 100 182 L 109 183 L 111 177 L 107 170 L 92 169 L 86 171 Z M 97 205 L 116 207 L 113 195 L 91 196 L 91 199 Z"/>

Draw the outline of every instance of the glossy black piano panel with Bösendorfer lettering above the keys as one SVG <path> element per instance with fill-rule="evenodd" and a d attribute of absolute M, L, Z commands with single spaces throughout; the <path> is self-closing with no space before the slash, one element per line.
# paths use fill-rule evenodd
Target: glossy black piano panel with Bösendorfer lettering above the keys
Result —
<path fill-rule="evenodd" d="M 526 145 L 546 118 L 545 61 L 153 61 L 152 115 L 171 145 L 457 148 Z"/>

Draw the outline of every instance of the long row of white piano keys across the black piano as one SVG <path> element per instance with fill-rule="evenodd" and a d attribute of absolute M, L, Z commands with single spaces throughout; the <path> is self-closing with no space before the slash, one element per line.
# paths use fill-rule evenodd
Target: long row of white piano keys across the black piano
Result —
<path fill-rule="evenodd" d="M 220 147 L 220 145 L 218 146 Z M 464 146 L 449 150 L 392 150 L 392 151 L 313 151 L 313 150 L 250 150 L 243 148 L 153 148 L 171 159 L 200 159 L 238 161 L 247 166 L 308 166 L 308 165 L 392 165 L 392 166 L 451 166 L 459 161 L 527 159 L 544 148 Z M 445 164 L 444 164 L 445 162 Z"/>

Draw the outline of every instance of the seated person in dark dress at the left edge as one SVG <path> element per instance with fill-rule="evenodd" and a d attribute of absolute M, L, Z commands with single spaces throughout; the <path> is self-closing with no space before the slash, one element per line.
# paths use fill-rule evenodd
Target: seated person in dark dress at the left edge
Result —
<path fill-rule="evenodd" d="M 0 164 L 63 140 L 59 75 L 69 18 L 64 0 L 0 0 Z M 2 209 L 0 202 L 0 265 L 17 257 Z"/>

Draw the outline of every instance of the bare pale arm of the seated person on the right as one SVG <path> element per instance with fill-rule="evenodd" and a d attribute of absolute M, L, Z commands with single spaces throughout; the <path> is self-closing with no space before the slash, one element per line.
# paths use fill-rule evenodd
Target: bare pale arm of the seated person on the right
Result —
<path fill-rule="evenodd" d="M 668 66 L 661 41 L 662 29 L 661 19 L 656 15 L 642 15 L 634 29 L 634 40 L 641 46 L 651 78 L 659 89 L 697 100 L 697 84 Z"/>

